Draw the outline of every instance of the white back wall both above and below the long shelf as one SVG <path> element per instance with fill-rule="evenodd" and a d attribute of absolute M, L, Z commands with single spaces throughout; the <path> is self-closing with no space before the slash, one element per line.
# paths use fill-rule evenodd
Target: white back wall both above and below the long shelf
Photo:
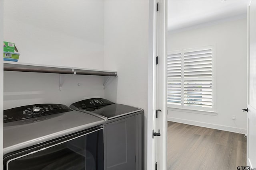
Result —
<path fill-rule="evenodd" d="M 18 62 L 103 69 L 104 1 L 5 0 L 4 40 L 18 47 Z M 58 74 L 4 72 L 4 109 L 104 98 L 102 76 L 62 77 L 60 91 Z"/>

